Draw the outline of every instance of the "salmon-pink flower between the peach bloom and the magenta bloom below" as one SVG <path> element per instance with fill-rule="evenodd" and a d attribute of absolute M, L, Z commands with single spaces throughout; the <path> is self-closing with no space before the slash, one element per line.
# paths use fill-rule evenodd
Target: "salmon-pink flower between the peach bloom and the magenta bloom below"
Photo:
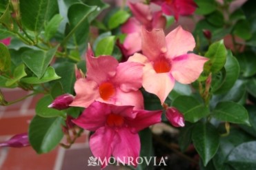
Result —
<path fill-rule="evenodd" d="M 76 96 L 70 105 L 88 107 L 97 100 L 144 108 L 143 96 L 139 91 L 143 67 L 143 64 L 135 62 L 118 63 L 113 56 L 95 57 L 89 46 L 86 52 L 86 78 L 76 81 Z"/>

